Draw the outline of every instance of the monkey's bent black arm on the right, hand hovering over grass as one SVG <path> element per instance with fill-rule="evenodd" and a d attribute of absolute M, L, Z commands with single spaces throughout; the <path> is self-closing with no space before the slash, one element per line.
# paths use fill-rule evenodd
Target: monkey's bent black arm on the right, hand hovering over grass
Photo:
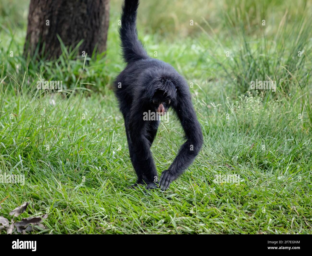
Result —
<path fill-rule="evenodd" d="M 178 104 L 173 108 L 180 119 L 186 142 L 181 146 L 169 169 L 162 172 L 159 180 L 159 186 L 162 190 L 166 190 L 170 183 L 193 163 L 203 143 L 202 130 L 193 109 L 190 95 L 187 93 L 185 96 L 180 96 Z"/>

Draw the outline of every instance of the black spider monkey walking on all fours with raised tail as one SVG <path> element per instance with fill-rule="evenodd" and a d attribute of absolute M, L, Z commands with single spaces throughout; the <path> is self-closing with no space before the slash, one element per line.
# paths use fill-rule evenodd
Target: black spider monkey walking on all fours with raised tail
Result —
<path fill-rule="evenodd" d="M 157 170 L 150 147 L 157 133 L 159 121 L 146 121 L 144 112 L 163 115 L 173 108 L 185 132 L 186 142 L 171 166 L 164 170 L 159 186 L 166 190 L 194 161 L 203 138 L 193 109 L 188 83 L 168 63 L 150 58 L 138 39 L 136 16 L 139 0 L 125 0 L 119 29 L 126 68 L 114 82 L 115 95 L 124 116 L 129 154 L 138 176 L 136 183 L 156 188 Z"/>

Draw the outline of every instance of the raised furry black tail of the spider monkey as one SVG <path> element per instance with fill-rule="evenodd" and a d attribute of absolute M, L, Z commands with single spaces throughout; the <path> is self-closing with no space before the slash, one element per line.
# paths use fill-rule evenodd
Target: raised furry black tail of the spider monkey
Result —
<path fill-rule="evenodd" d="M 119 35 L 123 57 L 127 63 L 149 58 L 138 39 L 136 16 L 139 0 L 125 0 L 122 7 Z"/>

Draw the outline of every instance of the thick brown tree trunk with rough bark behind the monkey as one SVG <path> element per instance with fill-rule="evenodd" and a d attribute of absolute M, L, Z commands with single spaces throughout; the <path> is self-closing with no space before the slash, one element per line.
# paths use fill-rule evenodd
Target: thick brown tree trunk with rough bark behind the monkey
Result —
<path fill-rule="evenodd" d="M 24 54 L 51 59 L 61 55 L 60 36 L 66 47 L 83 40 L 79 55 L 106 50 L 109 0 L 31 0 Z"/>

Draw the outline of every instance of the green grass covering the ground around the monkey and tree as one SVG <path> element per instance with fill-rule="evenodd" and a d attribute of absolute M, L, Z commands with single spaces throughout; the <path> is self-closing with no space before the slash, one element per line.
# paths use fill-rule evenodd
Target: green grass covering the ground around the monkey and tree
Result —
<path fill-rule="evenodd" d="M 111 4 L 107 55 L 88 65 L 65 49 L 57 62 L 23 58 L 27 2 L 0 2 L 0 169 L 25 175 L 23 186 L 0 183 L 0 215 L 11 220 L 12 209 L 30 202 L 15 220 L 48 213 L 35 233 L 312 233 L 308 3 L 140 6 L 139 36 L 150 56 L 157 51 L 192 85 L 204 135 L 194 163 L 161 192 L 126 189 L 136 176 L 111 91 L 124 67 L 120 1 Z M 37 91 L 41 78 L 62 80 L 65 92 Z M 278 80 L 276 92 L 250 90 L 256 78 Z M 183 143 L 169 117 L 151 149 L 158 174 Z M 240 175 L 240 183 L 216 183 L 219 174 Z"/>

